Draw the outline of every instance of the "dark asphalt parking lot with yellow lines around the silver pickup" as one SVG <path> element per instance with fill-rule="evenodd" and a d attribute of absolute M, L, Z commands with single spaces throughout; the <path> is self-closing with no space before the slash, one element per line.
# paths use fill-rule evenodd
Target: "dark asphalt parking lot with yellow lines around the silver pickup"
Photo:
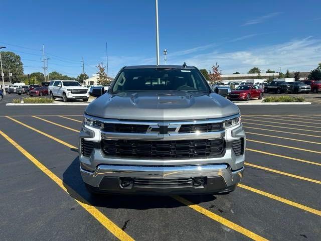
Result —
<path fill-rule="evenodd" d="M 97 198 L 79 172 L 85 106 L 0 101 L 1 239 L 320 240 L 319 105 L 239 107 L 246 170 L 234 192 Z"/>

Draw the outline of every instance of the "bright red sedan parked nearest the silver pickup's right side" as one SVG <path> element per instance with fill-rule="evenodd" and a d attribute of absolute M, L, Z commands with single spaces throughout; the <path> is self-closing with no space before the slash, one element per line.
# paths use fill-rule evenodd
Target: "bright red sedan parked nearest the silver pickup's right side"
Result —
<path fill-rule="evenodd" d="M 237 88 L 233 89 L 229 95 L 228 99 L 230 100 L 247 100 L 253 98 L 262 99 L 264 89 L 260 88 L 258 85 L 240 85 Z"/>

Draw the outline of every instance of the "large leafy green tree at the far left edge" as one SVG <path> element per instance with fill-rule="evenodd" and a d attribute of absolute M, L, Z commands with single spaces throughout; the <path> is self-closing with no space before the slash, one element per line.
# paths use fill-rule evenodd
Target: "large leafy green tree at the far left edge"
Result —
<path fill-rule="evenodd" d="M 18 54 L 10 51 L 4 51 L 1 52 L 1 57 L 5 81 L 9 81 L 9 72 L 13 73 L 13 75 L 24 74 L 24 65 Z M 16 80 L 18 80 L 18 78 L 13 76 L 12 82 L 16 82 Z"/>

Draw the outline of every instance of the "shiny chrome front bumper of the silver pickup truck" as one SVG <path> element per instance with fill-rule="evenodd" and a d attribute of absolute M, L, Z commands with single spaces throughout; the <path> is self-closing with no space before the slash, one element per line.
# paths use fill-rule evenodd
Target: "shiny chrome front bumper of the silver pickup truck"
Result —
<path fill-rule="evenodd" d="M 232 171 L 228 165 L 195 165 L 195 166 L 123 166 L 123 165 L 99 165 L 94 172 L 88 172 L 80 168 L 81 176 L 85 183 L 97 190 L 113 193 L 219 193 L 229 190 L 241 181 L 244 167 Z M 207 182 L 201 186 L 190 185 L 188 187 L 162 187 L 130 185 L 122 187 L 122 178 L 132 180 L 144 179 L 150 182 L 181 180 L 184 178 L 206 178 Z M 217 179 L 221 179 L 217 180 Z"/>

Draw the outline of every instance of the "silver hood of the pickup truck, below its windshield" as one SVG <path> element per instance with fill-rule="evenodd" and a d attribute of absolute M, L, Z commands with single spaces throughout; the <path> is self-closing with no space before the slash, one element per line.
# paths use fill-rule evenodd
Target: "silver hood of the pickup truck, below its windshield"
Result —
<path fill-rule="evenodd" d="M 90 103 L 85 113 L 102 118 L 170 121 L 225 117 L 239 113 L 239 108 L 216 93 L 137 91 L 105 93 Z"/>

